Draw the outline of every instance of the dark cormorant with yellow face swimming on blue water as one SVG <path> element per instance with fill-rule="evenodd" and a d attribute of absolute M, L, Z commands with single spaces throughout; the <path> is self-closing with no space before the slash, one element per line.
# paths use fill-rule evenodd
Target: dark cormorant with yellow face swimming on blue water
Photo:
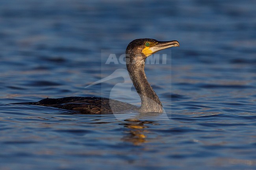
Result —
<path fill-rule="evenodd" d="M 162 113 L 160 99 L 147 81 L 145 60 L 148 56 L 162 49 L 179 47 L 178 41 L 158 41 L 151 38 L 135 39 L 126 48 L 126 67 L 134 87 L 141 98 L 141 107 L 103 97 L 64 97 L 46 98 L 38 102 L 13 104 L 33 104 L 74 110 L 85 114 L 108 114 L 121 111 L 137 110 L 141 113 Z"/>

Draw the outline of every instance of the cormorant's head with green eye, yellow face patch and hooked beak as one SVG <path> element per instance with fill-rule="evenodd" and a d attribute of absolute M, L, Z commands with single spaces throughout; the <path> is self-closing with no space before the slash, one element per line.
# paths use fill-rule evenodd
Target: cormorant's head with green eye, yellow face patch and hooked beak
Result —
<path fill-rule="evenodd" d="M 126 64 L 131 62 L 141 63 L 145 62 L 145 59 L 160 51 L 162 49 L 170 47 L 179 47 L 180 44 L 178 41 L 158 41 L 151 38 L 141 38 L 136 39 L 130 42 L 126 48 Z M 130 59 L 130 62 L 127 62 Z"/>

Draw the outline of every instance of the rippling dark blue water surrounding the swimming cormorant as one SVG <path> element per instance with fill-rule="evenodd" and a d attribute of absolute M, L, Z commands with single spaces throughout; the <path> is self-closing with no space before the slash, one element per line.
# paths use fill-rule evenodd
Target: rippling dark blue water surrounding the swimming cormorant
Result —
<path fill-rule="evenodd" d="M 1 1 L 0 169 L 256 169 L 255 9 L 252 0 Z M 166 115 L 9 104 L 111 95 L 139 105 L 134 89 L 111 93 L 129 87 L 122 77 L 84 87 L 125 69 L 102 64 L 103 49 L 121 54 L 145 37 L 180 42 L 161 51 L 166 64 L 146 66 Z"/>

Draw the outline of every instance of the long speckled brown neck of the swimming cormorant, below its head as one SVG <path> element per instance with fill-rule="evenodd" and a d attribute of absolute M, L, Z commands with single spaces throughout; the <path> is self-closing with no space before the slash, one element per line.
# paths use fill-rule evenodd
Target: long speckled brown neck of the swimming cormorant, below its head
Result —
<path fill-rule="evenodd" d="M 134 87 L 141 98 L 140 112 L 158 112 L 162 113 L 163 108 L 156 92 L 152 89 L 147 81 L 145 74 L 146 57 L 135 56 L 134 54 L 126 54 L 126 67 Z"/>

